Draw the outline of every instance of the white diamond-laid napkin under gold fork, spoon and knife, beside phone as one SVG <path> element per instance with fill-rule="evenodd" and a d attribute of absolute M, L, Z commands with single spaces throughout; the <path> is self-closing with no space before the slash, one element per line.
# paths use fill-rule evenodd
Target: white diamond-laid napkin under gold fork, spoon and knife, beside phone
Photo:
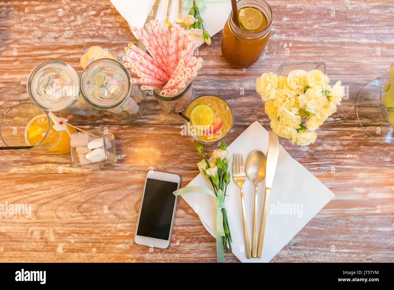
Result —
<path fill-rule="evenodd" d="M 215 148 L 210 148 L 215 146 Z M 211 145 L 211 149 L 218 149 Z M 268 151 L 268 132 L 257 121 L 251 124 L 243 133 L 228 146 L 231 154 L 242 153 L 246 167 L 246 160 L 253 150 L 261 150 L 264 154 Z M 206 156 L 210 157 L 210 154 Z M 229 166 L 231 172 L 232 164 Z M 200 173 L 187 186 L 202 186 L 212 188 L 211 184 Z M 262 216 L 262 199 L 264 197 L 265 180 L 258 184 L 258 230 L 260 229 Z M 252 242 L 253 230 L 253 203 L 254 184 L 246 177 L 243 184 L 245 195 L 245 207 L 247 212 L 247 224 L 249 240 Z M 241 262 L 269 262 L 275 255 L 334 197 L 327 187 L 323 185 L 304 166 L 294 160 L 286 150 L 280 146 L 279 159 L 275 171 L 271 195 L 269 197 L 268 215 L 264 238 L 263 255 L 261 259 L 247 259 L 243 238 L 241 198 L 238 185 L 232 181 L 227 188 L 225 206 L 229 218 L 230 232 L 232 236 L 232 252 Z M 208 232 L 213 235 L 215 229 L 216 201 L 211 196 L 201 193 L 183 194 L 182 198 L 199 215 Z M 279 205 L 278 205 L 279 203 Z M 273 214 L 273 210 L 281 209 L 282 204 L 296 204 L 301 214 Z M 302 208 L 301 208 L 302 204 Z M 302 211 L 301 211 L 302 209 Z M 281 213 L 281 211 L 279 211 Z"/>

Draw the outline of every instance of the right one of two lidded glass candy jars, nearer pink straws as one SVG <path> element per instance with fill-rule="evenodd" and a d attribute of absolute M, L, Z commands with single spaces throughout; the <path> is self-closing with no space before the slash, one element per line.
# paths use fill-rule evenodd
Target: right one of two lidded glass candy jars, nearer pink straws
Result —
<path fill-rule="evenodd" d="M 117 119 L 132 123 L 145 111 L 146 94 L 130 83 L 130 73 L 119 61 L 103 58 L 87 65 L 81 74 L 84 100 Z"/>

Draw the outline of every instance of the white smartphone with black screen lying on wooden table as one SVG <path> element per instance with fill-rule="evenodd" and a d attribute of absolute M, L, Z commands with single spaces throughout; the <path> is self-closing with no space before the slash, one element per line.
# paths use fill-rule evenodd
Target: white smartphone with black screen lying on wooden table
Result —
<path fill-rule="evenodd" d="M 150 170 L 145 178 L 134 242 L 167 248 L 171 243 L 177 207 L 173 192 L 180 187 L 180 175 Z"/>

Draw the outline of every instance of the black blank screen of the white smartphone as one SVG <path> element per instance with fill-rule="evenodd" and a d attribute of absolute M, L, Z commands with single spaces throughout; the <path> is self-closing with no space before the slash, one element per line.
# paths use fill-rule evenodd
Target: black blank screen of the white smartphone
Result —
<path fill-rule="evenodd" d="M 138 236 L 168 240 L 178 183 L 147 178 L 137 229 Z"/>

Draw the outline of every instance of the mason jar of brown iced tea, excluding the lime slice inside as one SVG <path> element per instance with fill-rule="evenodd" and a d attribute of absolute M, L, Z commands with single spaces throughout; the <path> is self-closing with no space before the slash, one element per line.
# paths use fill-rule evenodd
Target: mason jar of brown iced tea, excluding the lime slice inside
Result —
<path fill-rule="evenodd" d="M 247 68 L 255 63 L 266 46 L 271 31 L 272 10 L 264 0 L 240 0 L 238 12 L 245 7 L 258 9 L 265 17 L 266 28 L 244 30 L 235 23 L 232 13 L 224 26 L 221 50 L 226 61 L 235 68 Z"/>

